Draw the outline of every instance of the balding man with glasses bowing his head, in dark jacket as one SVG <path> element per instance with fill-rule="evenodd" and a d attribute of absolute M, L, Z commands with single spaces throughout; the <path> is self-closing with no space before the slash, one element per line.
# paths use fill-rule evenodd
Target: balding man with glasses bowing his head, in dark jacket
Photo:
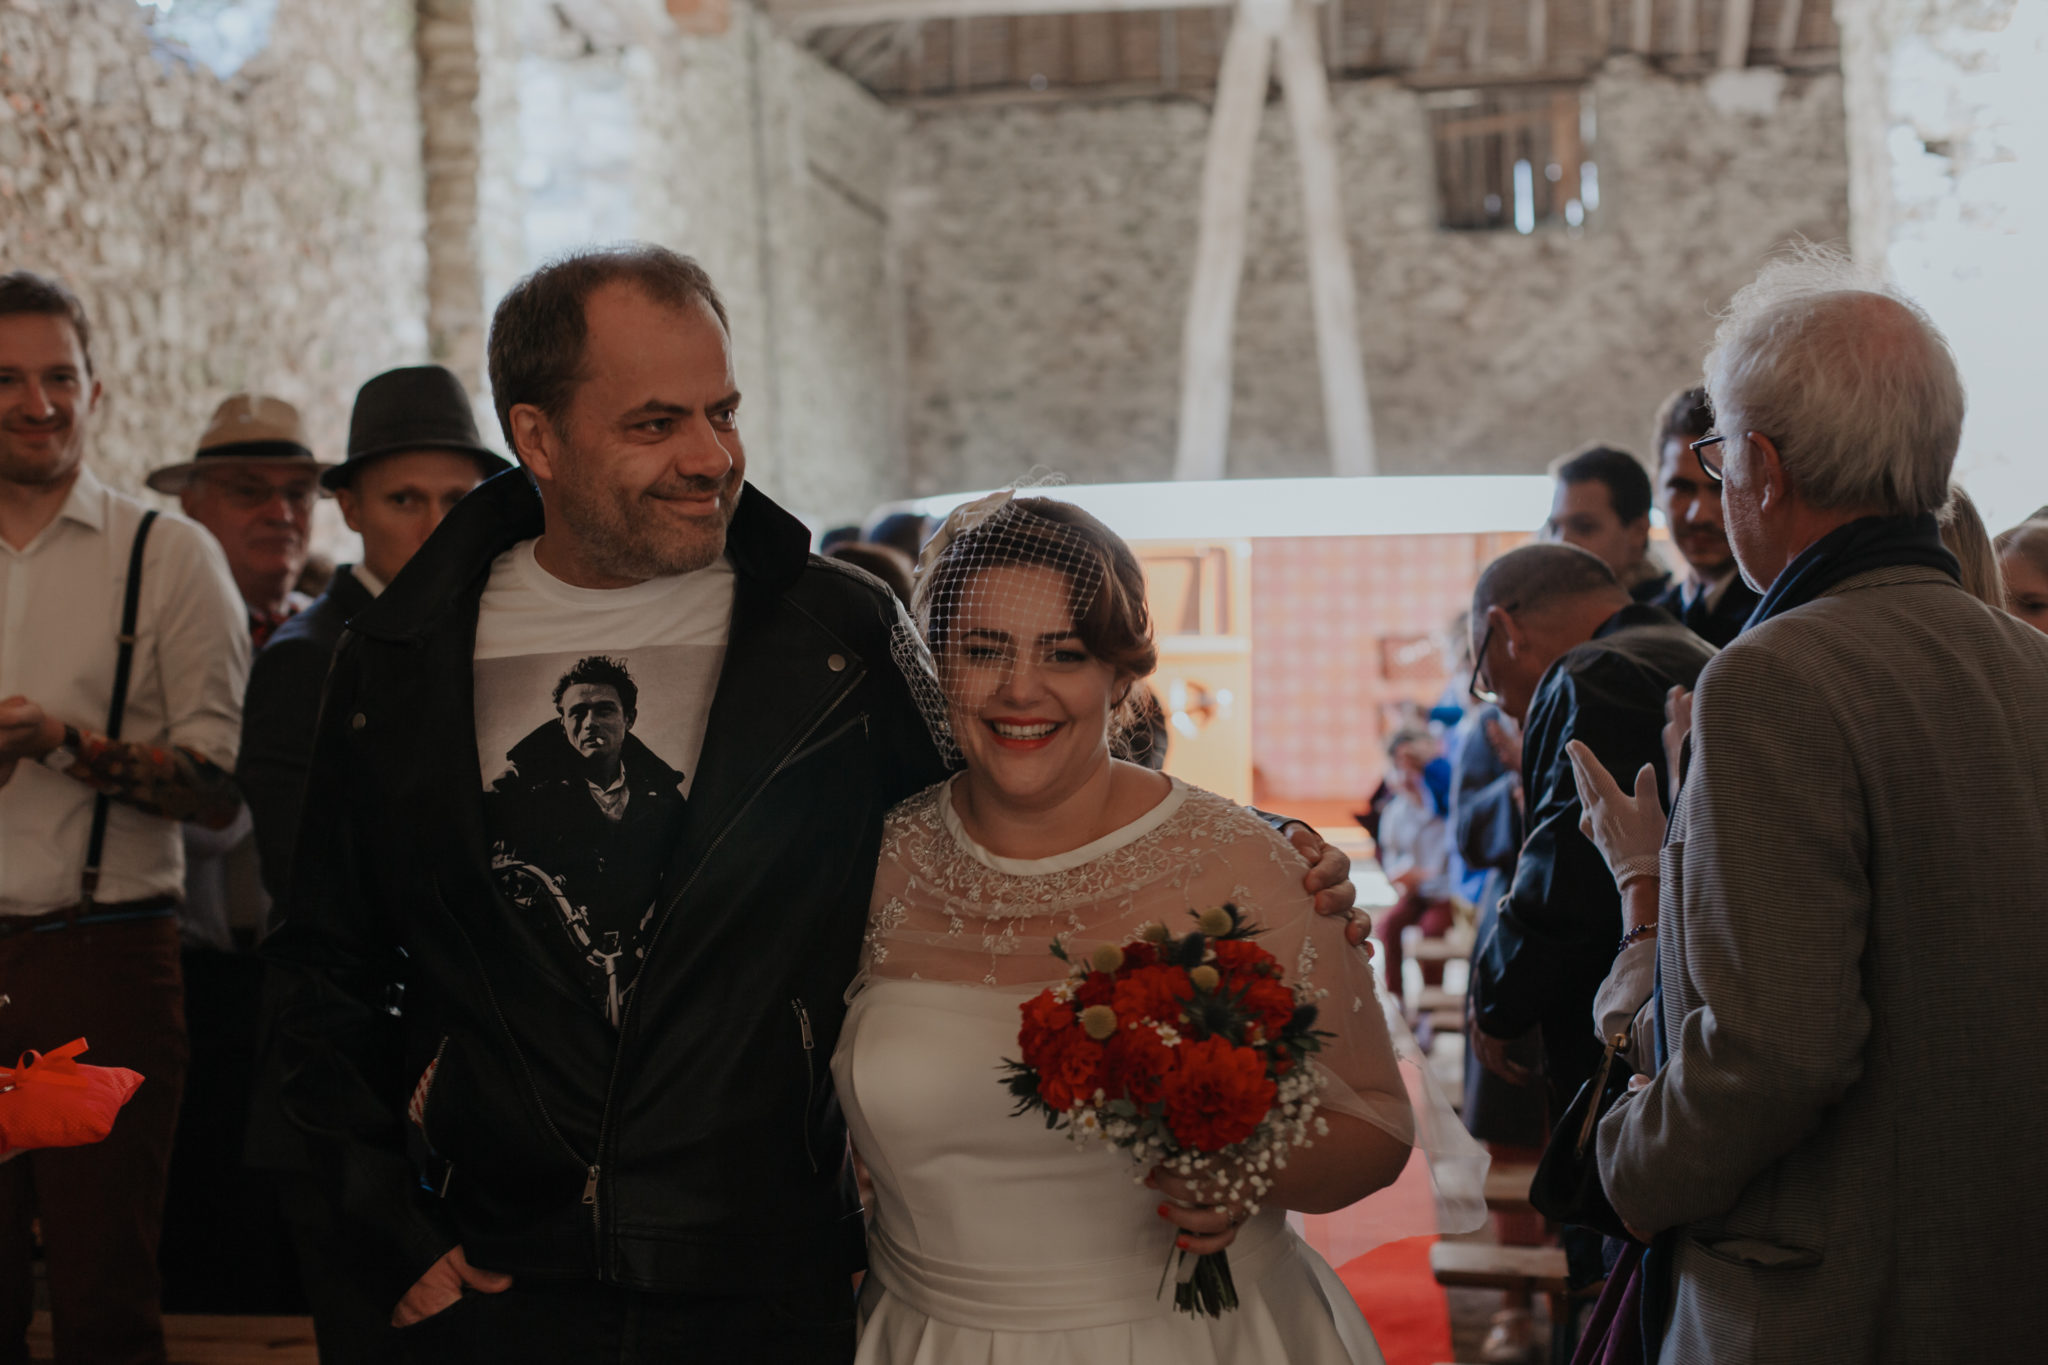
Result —
<path fill-rule="evenodd" d="M 1475 690 L 1522 720 L 1526 835 L 1516 878 L 1473 952 L 1473 1046 L 1511 1081 L 1528 1070 L 1507 1040 L 1538 1023 L 1552 1113 L 1593 1074 L 1585 1029 L 1622 935 L 1614 878 L 1583 833 L 1565 745 L 1608 767 L 1663 774 L 1665 692 L 1690 688 L 1712 645 L 1655 606 L 1630 602 L 1614 573 L 1569 544 L 1501 555 L 1473 589 Z"/>

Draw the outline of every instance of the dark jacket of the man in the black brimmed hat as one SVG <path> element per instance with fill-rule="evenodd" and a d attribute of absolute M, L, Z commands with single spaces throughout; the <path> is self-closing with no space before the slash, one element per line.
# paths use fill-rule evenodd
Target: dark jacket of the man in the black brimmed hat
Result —
<path fill-rule="evenodd" d="M 336 569 L 328 591 L 279 626 L 250 667 L 236 784 L 256 821 L 256 855 L 272 919 L 291 884 L 291 843 L 299 835 L 305 767 L 313 759 L 319 690 L 342 628 L 371 602 L 371 589 L 346 565 Z"/>

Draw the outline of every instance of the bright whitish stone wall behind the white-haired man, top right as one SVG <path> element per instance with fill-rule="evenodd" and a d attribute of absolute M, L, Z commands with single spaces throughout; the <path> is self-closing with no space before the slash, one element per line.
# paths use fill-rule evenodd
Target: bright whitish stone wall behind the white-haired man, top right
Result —
<path fill-rule="evenodd" d="M 1858 258 L 1948 334 L 1956 473 L 1993 532 L 2048 503 L 2048 4 L 1837 0 Z"/>

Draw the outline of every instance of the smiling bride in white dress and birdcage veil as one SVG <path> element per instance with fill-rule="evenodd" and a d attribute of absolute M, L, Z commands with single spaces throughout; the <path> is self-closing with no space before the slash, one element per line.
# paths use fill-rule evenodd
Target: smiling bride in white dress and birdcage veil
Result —
<path fill-rule="evenodd" d="M 885 825 L 862 972 L 831 1060 L 872 1179 L 862 1365 L 1352 1365 L 1378 1347 L 1286 1212 L 1343 1209 L 1407 1162 L 1415 1119 L 1364 952 L 1303 862 L 1237 804 L 1110 755 L 1157 653 L 1137 557 L 1071 503 L 995 495 L 926 548 L 913 610 L 965 772 Z M 1120 1150 L 1012 1117 L 1018 1005 L 1147 923 L 1233 902 L 1333 1038 L 1327 1136 L 1253 1214 Z M 1139 1183 L 1145 1177 L 1145 1183 Z M 1174 1246 L 1229 1248 L 1223 1318 L 1159 1293 Z"/>

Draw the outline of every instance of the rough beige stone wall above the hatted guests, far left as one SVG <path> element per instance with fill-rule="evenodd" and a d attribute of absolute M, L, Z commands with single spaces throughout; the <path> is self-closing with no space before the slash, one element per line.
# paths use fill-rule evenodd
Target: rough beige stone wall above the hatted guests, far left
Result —
<path fill-rule="evenodd" d="M 408 0 L 283 0 L 227 80 L 135 0 L 0 0 L 0 264 L 84 297 L 113 483 L 238 389 L 338 458 L 356 385 L 424 358 L 422 239 Z"/>

